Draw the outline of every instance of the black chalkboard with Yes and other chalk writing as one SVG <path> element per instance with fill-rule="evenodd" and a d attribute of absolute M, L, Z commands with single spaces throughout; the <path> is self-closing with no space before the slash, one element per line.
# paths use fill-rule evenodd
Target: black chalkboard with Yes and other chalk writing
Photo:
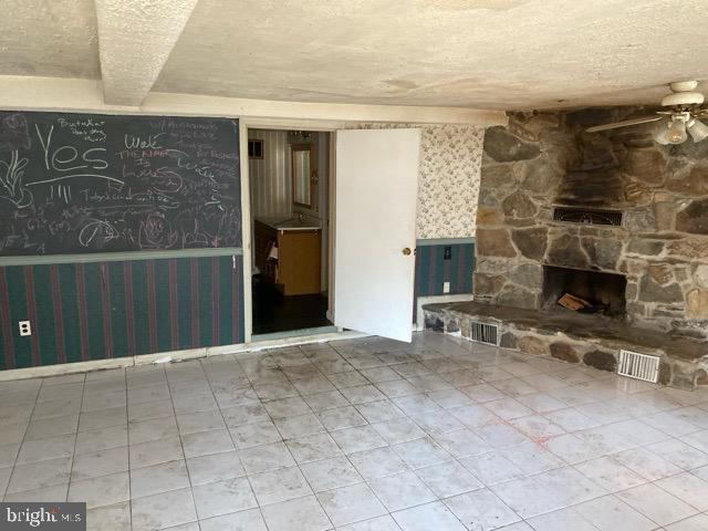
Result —
<path fill-rule="evenodd" d="M 241 246 L 238 122 L 0 112 L 0 256 Z"/>

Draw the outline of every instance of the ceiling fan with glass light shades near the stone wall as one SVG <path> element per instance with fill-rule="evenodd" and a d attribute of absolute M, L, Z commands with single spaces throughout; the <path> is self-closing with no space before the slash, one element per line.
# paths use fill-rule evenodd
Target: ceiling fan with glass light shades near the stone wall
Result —
<path fill-rule="evenodd" d="M 643 116 L 612 124 L 595 125 L 594 127 L 589 127 L 586 129 L 587 133 L 658 122 L 653 135 L 654 139 L 664 146 L 683 144 L 688 138 L 688 135 L 695 143 L 708 137 L 708 125 L 698 119 L 708 117 L 708 108 L 700 106 L 705 100 L 704 95 L 700 92 L 695 92 L 698 82 L 677 81 L 669 83 L 668 86 L 673 94 L 662 100 L 662 107 L 665 111 L 657 111 L 656 116 Z"/>

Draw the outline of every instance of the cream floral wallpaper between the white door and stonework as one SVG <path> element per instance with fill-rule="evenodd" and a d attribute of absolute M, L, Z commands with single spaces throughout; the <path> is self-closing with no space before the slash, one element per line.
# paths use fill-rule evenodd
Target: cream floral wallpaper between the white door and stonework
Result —
<path fill-rule="evenodd" d="M 420 128 L 417 238 L 475 236 L 483 127 L 417 124 L 357 124 L 355 127 Z"/>

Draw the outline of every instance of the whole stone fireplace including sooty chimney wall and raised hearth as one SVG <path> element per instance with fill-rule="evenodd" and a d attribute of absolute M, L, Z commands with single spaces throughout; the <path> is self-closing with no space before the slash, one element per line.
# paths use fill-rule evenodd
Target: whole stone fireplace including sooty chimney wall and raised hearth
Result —
<path fill-rule="evenodd" d="M 470 337 L 489 322 L 501 346 L 608 371 L 622 348 L 655 354 L 662 383 L 708 383 L 708 140 L 584 131 L 637 113 L 518 113 L 487 129 L 475 301 L 431 305 L 426 325 Z M 600 311 L 561 309 L 564 293 Z"/>

